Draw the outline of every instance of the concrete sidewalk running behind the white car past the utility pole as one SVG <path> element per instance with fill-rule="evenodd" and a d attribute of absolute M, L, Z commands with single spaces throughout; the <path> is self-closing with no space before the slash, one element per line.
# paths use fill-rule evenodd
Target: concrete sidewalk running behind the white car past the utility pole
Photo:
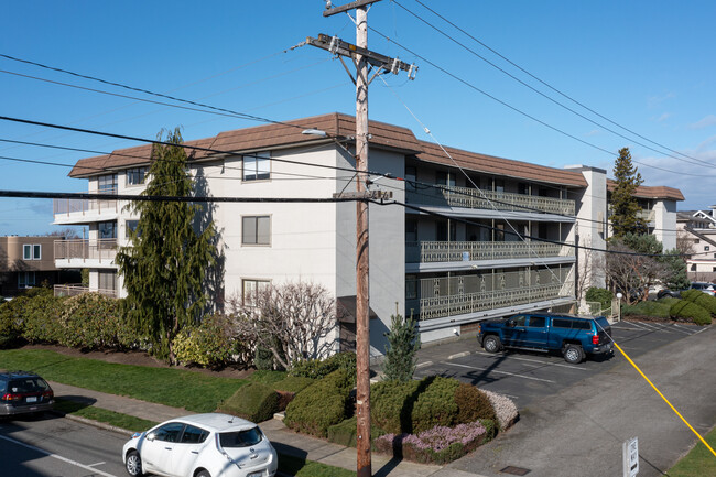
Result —
<path fill-rule="evenodd" d="M 163 422 L 182 415 L 193 414 L 184 409 L 107 394 L 89 389 L 75 388 L 58 382 L 50 382 L 50 386 L 52 386 L 57 398 L 96 405 L 97 408 L 149 421 Z M 335 467 L 343 467 L 348 470 L 356 470 L 356 449 L 352 447 L 344 447 L 319 438 L 297 434 L 288 429 L 278 419 L 263 422 L 260 426 L 275 449 L 281 454 L 293 455 Z M 128 431 L 143 430 L 132 429 Z M 415 464 L 408 460 L 395 460 L 377 454 L 372 454 L 371 459 L 372 474 L 376 477 L 479 477 L 477 474 L 465 470 L 447 469 L 436 465 Z"/>

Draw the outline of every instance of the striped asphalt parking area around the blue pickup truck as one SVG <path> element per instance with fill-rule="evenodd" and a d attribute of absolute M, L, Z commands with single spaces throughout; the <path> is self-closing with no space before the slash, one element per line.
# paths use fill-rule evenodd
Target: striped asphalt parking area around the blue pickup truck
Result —
<path fill-rule="evenodd" d="M 616 343 L 639 365 L 639 356 L 644 353 L 705 328 L 676 323 L 621 322 L 614 324 L 611 329 Z M 616 349 L 614 355 L 589 357 L 579 365 L 567 364 L 560 354 L 524 350 L 490 354 L 471 335 L 423 347 L 419 351 L 415 377 L 453 377 L 506 394 L 518 409 L 523 409 L 535 399 L 554 394 L 583 379 L 595 378 L 623 361 Z"/>

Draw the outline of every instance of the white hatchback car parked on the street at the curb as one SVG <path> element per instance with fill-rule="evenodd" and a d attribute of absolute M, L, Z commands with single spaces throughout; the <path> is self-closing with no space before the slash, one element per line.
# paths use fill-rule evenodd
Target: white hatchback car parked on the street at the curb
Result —
<path fill-rule="evenodd" d="M 135 433 L 122 448 L 130 476 L 273 477 L 276 452 L 252 422 L 228 414 L 194 414 Z"/>

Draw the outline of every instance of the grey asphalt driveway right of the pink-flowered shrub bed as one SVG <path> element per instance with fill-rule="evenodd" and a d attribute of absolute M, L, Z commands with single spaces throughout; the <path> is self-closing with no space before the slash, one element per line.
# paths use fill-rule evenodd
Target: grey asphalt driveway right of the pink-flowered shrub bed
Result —
<path fill-rule="evenodd" d="M 623 344 L 637 365 L 691 425 L 702 435 L 708 432 L 716 423 L 716 400 L 713 399 L 716 327 L 686 327 L 685 330 L 640 324 L 618 327 L 617 343 Z M 649 350 L 644 351 L 644 347 Z M 482 359 L 479 354 L 469 356 Z M 545 359 L 547 365 L 542 367 L 522 367 L 521 376 L 554 381 L 550 383 L 509 375 L 503 375 L 506 378 L 492 376 L 495 370 L 507 369 L 502 366 L 508 362 L 519 368 L 511 362 L 517 361 L 517 357 L 510 354 L 487 358 L 497 366 L 490 368 L 488 360 L 484 366 L 487 369 L 470 371 L 476 375 L 467 378 L 465 372 L 457 372 L 462 379 L 477 379 L 478 386 L 484 388 L 513 380 L 518 384 L 511 389 L 516 389 L 514 392 L 520 391 L 518 388 L 523 390 L 519 399 L 521 403 L 527 401 L 527 405 L 520 405 L 520 421 L 512 429 L 444 470 L 505 477 L 510 474 L 500 470 L 512 467 L 529 469 L 530 477 L 621 476 L 622 443 L 638 437 L 639 477 L 660 476 L 697 441 L 620 355 L 605 362 L 587 361 L 585 371 L 556 366 L 561 359 L 557 357 L 534 358 Z M 533 358 L 532 355 L 519 357 Z M 453 360 L 459 362 L 463 358 L 466 357 Z M 599 366 L 603 369 L 597 369 Z M 545 390 L 550 387 L 553 387 L 552 393 Z"/>

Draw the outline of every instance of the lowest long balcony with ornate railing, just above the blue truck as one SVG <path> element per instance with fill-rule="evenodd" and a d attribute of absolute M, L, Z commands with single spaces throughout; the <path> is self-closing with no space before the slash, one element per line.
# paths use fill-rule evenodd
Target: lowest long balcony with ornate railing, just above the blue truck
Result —
<path fill-rule="evenodd" d="M 442 277 L 420 280 L 420 296 L 405 301 L 405 316 L 421 321 L 565 297 L 568 268 Z"/>

